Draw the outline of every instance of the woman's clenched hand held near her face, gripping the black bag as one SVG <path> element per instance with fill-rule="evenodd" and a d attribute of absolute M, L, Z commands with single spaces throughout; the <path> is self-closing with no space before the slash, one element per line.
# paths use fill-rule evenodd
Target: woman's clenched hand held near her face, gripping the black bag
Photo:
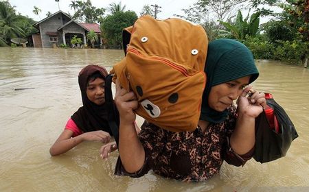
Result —
<path fill-rule="evenodd" d="M 266 107 L 266 99 L 264 93 L 253 90 L 252 86 L 247 86 L 238 97 L 238 115 L 246 115 L 248 117 L 258 117 Z"/>

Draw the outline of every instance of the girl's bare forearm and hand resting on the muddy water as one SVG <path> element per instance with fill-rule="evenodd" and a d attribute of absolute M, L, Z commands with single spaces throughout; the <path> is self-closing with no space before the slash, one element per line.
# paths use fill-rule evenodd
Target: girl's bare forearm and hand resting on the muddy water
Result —
<path fill-rule="evenodd" d="M 75 147 L 82 141 L 102 141 L 102 143 L 108 143 L 111 139 L 108 132 L 104 132 L 102 130 L 85 132 L 75 137 L 71 136 L 73 136 L 73 132 L 71 130 L 63 130 L 54 145 L 50 147 L 49 153 L 52 156 L 57 156 L 69 151 L 69 149 Z"/>

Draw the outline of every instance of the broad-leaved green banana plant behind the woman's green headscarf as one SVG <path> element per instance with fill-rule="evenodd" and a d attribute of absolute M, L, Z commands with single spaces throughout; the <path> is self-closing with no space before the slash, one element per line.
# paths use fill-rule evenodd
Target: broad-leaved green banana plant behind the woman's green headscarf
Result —
<path fill-rule="evenodd" d="M 250 13 L 250 11 L 249 11 Z M 255 12 L 249 19 L 249 13 L 245 19 L 242 19 L 242 12 L 238 11 L 235 23 L 219 21 L 227 28 L 226 34 L 232 34 L 238 40 L 244 40 L 246 36 L 256 36 L 259 33 L 260 12 Z"/>

